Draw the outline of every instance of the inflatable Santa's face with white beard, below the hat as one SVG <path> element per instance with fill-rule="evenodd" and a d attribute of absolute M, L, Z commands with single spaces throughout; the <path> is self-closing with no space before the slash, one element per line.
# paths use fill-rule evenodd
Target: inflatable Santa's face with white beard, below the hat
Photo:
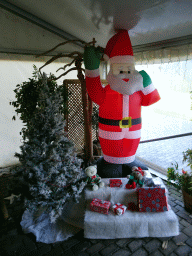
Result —
<path fill-rule="evenodd" d="M 107 75 L 112 90 L 131 95 L 143 89 L 143 78 L 135 70 L 134 64 L 113 63 Z"/>

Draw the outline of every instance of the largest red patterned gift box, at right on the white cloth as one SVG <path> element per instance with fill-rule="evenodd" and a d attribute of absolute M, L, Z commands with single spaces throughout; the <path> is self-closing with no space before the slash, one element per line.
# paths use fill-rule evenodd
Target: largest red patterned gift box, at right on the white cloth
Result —
<path fill-rule="evenodd" d="M 168 211 L 165 188 L 138 188 L 137 195 L 140 212 Z"/>

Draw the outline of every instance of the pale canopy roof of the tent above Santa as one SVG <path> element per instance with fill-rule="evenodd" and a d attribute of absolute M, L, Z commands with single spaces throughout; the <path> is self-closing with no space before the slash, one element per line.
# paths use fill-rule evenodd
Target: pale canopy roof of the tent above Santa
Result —
<path fill-rule="evenodd" d="M 105 47 L 116 29 L 129 30 L 134 51 L 191 42 L 192 1 L 0 0 L 0 52 L 37 54 L 65 40 L 93 38 Z M 82 43 L 54 54 L 75 50 L 83 52 Z"/>

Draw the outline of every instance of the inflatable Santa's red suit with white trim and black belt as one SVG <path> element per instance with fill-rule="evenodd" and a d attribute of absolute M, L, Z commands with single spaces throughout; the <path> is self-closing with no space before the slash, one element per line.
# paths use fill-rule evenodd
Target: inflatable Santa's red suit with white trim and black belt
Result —
<path fill-rule="evenodd" d="M 114 46 L 111 48 L 114 49 Z M 122 54 L 118 51 L 118 62 L 119 52 Z M 111 49 L 108 55 L 110 54 L 115 59 Z M 126 54 L 122 55 L 124 58 Z M 137 76 L 140 76 L 139 79 L 143 83 L 139 72 Z M 160 99 L 158 91 L 150 83 L 135 92 L 119 93 L 111 89 L 110 84 L 106 87 L 101 85 L 99 69 L 86 70 L 86 87 L 92 101 L 99 105 L 99 140 L 105 161 L 113 164 L 133 162 L 141 137 L 141 106 L 157 102 Z"/>

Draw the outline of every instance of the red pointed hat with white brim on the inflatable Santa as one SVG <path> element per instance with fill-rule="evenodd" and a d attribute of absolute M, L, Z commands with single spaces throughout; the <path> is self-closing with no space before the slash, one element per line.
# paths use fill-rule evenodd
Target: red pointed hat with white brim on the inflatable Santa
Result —
<path fill-rule="evenodd" d="M 134 63 L 133 49 L 127 30 L 119 30 L 109 39 L 104 52 L 104 60 L 110 63 Z"/>

